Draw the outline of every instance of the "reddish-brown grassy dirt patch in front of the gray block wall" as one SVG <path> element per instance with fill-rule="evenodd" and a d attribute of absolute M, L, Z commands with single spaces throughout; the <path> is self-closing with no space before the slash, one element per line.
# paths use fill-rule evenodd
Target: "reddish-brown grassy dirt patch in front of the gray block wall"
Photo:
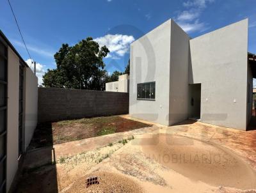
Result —
<path fill-rule="evenodd" d="M 127 120 L 120 116 L 41 123 L 35 130 L 29 149 L 126 132 L 143 127 L 150 127 L 150 125 L 139 121 Z"/>

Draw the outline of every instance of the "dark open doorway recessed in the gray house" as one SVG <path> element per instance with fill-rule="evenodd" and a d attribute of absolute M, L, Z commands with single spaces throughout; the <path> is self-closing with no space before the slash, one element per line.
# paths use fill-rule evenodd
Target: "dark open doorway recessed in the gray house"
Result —
<path fill-rule="evenodd" d="M 201 84 L 189 84 L 189 119 L 201 118 Z"/>

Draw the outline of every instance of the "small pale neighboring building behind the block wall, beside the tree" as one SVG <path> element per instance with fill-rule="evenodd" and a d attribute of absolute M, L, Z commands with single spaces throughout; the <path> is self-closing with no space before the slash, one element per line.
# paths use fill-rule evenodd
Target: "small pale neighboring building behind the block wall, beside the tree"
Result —
<path fill-rule="evenodd" d="M 129 75 L 119 75 L 118 81 L 106 83 L 106 91 L 129 93 Z"/>

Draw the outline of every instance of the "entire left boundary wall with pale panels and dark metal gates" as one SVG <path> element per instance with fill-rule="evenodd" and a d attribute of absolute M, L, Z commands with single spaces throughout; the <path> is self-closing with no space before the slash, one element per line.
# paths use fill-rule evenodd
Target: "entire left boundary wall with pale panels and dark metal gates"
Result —
<path fill-rule="evenodd" d="M 0 89 L 0 192 L 8 192 L 36 127 L 37 78 L 1 31 Z"/>

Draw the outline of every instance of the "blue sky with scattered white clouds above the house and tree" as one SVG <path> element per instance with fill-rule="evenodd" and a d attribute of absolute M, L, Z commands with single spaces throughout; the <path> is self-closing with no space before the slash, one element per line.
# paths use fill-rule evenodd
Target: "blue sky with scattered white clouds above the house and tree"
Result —
<path fill-rule="evenodd" d="M 24 40 L 38 65 L 38 78 L 56 68 L 53 58 L 62 43 L 74 45 L 92 36 L 111 50 L 104 59 L 109 73 L 124 71 L 129 44 L 172 18 L 193 38 L 214 29 L 249 19 L 248 51 L 256 53 L 255 0 L 10 0 Z M 0 29 L 22 58 L 29 56 L 7 0 L 0 0 Z M 29 61 L 28 61 L 29 63 Z"/>

